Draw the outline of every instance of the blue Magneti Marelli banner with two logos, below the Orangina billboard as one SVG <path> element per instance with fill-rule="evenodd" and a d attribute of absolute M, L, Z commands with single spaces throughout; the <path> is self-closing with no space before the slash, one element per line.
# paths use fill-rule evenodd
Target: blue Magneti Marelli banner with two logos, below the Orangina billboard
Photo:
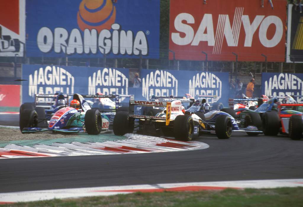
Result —
<path fill-rule="evenodd" d="M 62 65 L 22 65 L 22 102 L 35 94 L 127 94 L 128 69 Z"/>

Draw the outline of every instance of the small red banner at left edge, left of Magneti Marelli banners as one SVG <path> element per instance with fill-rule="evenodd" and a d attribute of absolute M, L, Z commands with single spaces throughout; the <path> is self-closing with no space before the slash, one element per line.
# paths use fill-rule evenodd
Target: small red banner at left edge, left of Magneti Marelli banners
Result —
<path fill-rule="evenodd" d="M 20 85 L 0 85 L 0 106 L 20 106 Z"/>

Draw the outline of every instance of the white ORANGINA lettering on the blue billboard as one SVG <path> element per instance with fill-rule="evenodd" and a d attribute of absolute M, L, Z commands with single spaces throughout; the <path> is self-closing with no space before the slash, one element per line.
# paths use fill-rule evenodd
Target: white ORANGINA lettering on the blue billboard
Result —
<path fill-rule="evenodd" d="M 72 29 L 70 33 L 65 28 L 42 27 L 38 31 L 37 44 L 41 52 L 71 54 L 113 54 L 148 55 L 148 41 L 143 31 L 136 34 L 131 30 L 122 30 L 117 23 L 112 24 L 112 32 L 103 29 L 99 33 L 96 29 L 85 29 L 82 35 L 79 29 Z"/>

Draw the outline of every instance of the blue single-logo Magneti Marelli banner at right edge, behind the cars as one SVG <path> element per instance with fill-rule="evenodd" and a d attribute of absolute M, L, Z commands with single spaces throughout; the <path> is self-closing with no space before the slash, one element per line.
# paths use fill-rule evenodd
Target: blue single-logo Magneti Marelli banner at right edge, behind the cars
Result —
<path fill-rule="evenodd" d="M 262 94 L 267 96 L 303 95 L 302 73 L 262 73 Z M 294 97 L 302 101 L 303 97 Z"/>

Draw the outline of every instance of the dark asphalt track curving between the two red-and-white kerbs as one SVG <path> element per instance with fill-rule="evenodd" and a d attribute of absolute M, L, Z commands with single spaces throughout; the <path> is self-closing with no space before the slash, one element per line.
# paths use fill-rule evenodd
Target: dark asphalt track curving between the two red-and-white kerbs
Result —
<path fill-rule="evenodd" d="M 114 185 L 303 178 L 303 140 L 203 135 L 185 152 L 0 159 L 0 192 Z"/>

